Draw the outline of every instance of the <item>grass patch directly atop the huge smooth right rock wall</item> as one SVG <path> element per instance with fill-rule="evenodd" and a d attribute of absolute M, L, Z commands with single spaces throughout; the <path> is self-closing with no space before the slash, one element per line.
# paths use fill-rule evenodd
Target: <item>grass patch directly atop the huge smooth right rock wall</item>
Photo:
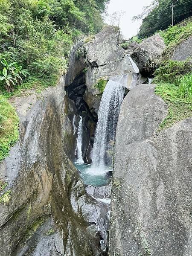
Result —
<path fill-rule="evenodd" d="M 160 83 L 155 87 L 155 94 L 168 104 L 166 118 L 157 131 L 171 127 L 174 123 L 192 116 L 192 75 L 180 77 L 177 85 Z"/>

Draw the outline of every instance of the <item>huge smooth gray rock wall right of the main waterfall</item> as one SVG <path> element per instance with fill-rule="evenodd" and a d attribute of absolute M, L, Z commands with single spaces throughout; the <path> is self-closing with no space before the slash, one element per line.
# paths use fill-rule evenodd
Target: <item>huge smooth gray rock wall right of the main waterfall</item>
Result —
<path fill-rule="evenodd" d="M 113 171 L 111 256 L 192 255 L 192 118 L 157 134 L 166 113 L 152 84 L 135 87 L 122 103 Z"/>

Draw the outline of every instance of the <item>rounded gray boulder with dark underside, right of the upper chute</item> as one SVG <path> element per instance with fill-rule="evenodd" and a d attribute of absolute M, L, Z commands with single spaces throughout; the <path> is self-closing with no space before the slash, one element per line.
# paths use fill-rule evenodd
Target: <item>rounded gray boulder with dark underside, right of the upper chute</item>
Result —
<path fill-rule="evenodd" d="M 145 39 L 140 46 L 132 52 L 131 57 L 143 76 L 150 76 L 154 73 L 155 65 L 161 57 L 165 44 L 159 34 L 152 35 Z"/>

